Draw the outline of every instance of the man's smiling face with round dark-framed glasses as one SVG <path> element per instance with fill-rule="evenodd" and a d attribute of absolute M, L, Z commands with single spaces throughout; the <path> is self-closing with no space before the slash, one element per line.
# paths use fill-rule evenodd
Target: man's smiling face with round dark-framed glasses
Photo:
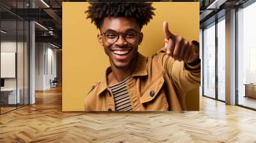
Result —
<path fill-rule="evenodd" d="M 103 34 L 108 31 L 116 31 L 119 33 L 119 38 L 115 43 L 109 42 L 113 38 L 113 34 Z M 140 32 L 140 26 L 134 18 L 131 17 L 106 17 L 100 29 L 101 35 L 98 35 L 99 43 L 104 47 L 106 54 L 109 57 L 111 66 L 118 69 L 124 69 L 131 66 L 132 61 L 136 57 L 138 51 L 138 44 L 142 41 L 143 34 L 136 33 L 136 40 L 130 40 L 132 34 L 127 34 L 126 41 L 122 33 L 127 31 Z M 130 36 L 131 35 L 131 36 Z M 127 42 L 129 41 L 129 42 Z M 131 42 L 132 41 L 132 42 Z"/>

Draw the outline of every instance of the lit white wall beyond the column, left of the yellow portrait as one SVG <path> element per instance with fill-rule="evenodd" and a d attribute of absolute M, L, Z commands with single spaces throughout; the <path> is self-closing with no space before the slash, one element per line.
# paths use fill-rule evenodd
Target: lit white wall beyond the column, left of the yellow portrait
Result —
<path fill-rule="evenodd" d="M 35 47 L 35 89 L 49 89 L 50 79 L 56 77 L 56 49 L 48 43 L 36 43 Z"/>

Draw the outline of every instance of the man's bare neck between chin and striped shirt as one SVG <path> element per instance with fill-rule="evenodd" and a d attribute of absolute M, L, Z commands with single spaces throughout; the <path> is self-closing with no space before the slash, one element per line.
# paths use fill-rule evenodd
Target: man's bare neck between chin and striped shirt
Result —
<path fill-rule="evenodd" d="M 111 64 L 112 72 L 108 75 L 108 85 L 117 84 L 127 79 L 135 69 L 137 56 L 134 58 L 134 61 L 127 66 L 127 68 L 119 69 L 115 65 Z"/>

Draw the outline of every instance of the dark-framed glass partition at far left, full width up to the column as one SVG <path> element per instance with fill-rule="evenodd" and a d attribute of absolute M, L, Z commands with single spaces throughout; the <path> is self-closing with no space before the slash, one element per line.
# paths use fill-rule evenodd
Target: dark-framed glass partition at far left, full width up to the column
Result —
<path fill-rule="evenodd" d="M 0 4 L 10 6 L 10 10 L 28 8 L 28 1 Z M 29 22 L 0 7 L 0 30 L 0 114 L 3 114 L 29 103 Z"/>

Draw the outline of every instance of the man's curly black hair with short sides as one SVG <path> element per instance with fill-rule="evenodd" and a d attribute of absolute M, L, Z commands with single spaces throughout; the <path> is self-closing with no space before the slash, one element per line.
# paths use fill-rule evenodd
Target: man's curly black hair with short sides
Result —
<path fill-rule="evenodd" d="M 140 28 L 147 25 L 152 16 L 155 15 L 152 3 L 139 2 L 91 2 L 88 6 L 86 19 L 91 19 L 92 23 L 100 29 L 105 17 L 134 17 Z"/>

